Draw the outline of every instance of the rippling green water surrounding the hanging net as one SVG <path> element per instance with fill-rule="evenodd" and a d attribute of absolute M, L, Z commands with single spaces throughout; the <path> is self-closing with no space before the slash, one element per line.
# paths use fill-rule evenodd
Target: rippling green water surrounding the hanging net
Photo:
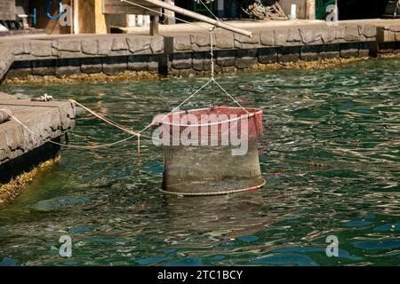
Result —
<path fill-rule="evenodd" d="M 3 86 L 76 99 L 136 130 L 206 79 Z M 318 71 L 219 78 L 265 112 L 259 192 L 179 198 L 160 193 L 162 152 L 142 141 L 64 149 L 0 208 L 2 265 L 400 264 L 400 59 Z M 201 97 L 205 105 L 212 96 Z M 220 104 L 228 99 L 219 96 Z M 204 106 L 200 99 L 188 108 Z M 126 137 L 80 114 L 70 143 Z M 59 256 L 61 235 L 73 256 Z M 325 240 L 339 238 L 339 257 Z"/>

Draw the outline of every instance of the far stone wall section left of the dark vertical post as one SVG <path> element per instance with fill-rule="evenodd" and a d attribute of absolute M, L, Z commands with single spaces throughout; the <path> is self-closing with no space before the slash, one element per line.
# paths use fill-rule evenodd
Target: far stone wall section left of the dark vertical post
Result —
<path fill-rule="evenodd" d="M 67 76 L 125 70 L 158 72 L 162 36 L 86 36 L 15 43 L 8 77 Z"/>

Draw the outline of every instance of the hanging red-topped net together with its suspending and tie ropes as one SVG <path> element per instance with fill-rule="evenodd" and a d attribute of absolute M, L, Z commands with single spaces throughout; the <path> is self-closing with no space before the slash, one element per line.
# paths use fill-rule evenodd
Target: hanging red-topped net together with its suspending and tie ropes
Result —
<path fill-rule="evenodd" d="M 202 0 L 199 1 L 203 3 Z M 124 2 L 130 3 L 126 0 Z M 143 8 L 148 9 L 144 6 Z M 168 17 L 168 15 L 165 16 Z M 213 16 L 219 21 L 215 15 Z M 176 17 L 173 18 L 177 19 Z M 198 25 L 195 24 L 195 26 Z M 205 28 L 210 36 L 211 76 L 209 80 L 178 106 L 173 107 L 168 114 L 159 114 L 158 117 L 161 117 L 161 119 L 153 120 L 142 130 L 132 130 L 124 127 L 76 100 L 70 100 L 71 104 L 82 107 L 86 112 L 97 117 L 102 122 L 106 122 L 112 127 L 129 134 L 127 138 L 109 144 L 65 145 L 55 142 L 51 138 L 42 138 L 35 131 L 30 130 L 12 112 L 7 111 L 6 114 L 10 115 L 14 122 L 20 123 L 30 134 L 42 138 L 46 142 L 84 150 L 116 146 L 124 141 L 137 138 L 137 151 L 138 155 L 140 155 L 140 138 L 154 138 L 154 135 L 146 136 L 144 132 L 150 128 L 161 131 L 159 138 L 162 142 L 160 146 L 163 146 L 164 153 L 162 190 L 164 193 L 201 196 L 257 190 L 265 185 L 265 180 L 261 177 L 258 153 L 258 137 L 263 131 L 262 110 L 242 106 L 215 80 L 213 50 L 213 32 L 215 28 L 214 26 Z M 180 110 L 181 106 L 184 106 L 202 91 L 204 92 L 206 88 L 207 90 L 212 88 L 211 107 Z M 236 107 L 216 106 L 216 90 L 232 100 Z M 204 116 L 208 117 L 207 121 L 203 120 Z M 196 118 L 196 122 L 200 123 L 191 121 L 189 117 Z M 177 118 L 176 122 L 175 119 Z M 184 133 L 188 135 L 185 136 L 183 135 Z M 173 143 L 175 140 L 179 140 L 178 145 Z M 204 141 L 205 143 L 203 143 Z"/>

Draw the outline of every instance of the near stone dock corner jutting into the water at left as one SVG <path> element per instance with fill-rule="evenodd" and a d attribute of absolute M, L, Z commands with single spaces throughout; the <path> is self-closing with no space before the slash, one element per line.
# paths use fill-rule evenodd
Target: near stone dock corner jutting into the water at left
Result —
<path fill-rule="evenodd" d="M 59 141 L 75 125 L 75 107 L 68 101 L 35 102 L 0 92 L 1 108 L 12 109 L 20 122 L 38 136 L 18 122 L 0 123 L 0 184 L 35 166 L 33 153 L 44 152 L 36 155 L 38 161 L 50 158 L 47 156 L 60 146 L 49 145 L 46 140 Z"/>

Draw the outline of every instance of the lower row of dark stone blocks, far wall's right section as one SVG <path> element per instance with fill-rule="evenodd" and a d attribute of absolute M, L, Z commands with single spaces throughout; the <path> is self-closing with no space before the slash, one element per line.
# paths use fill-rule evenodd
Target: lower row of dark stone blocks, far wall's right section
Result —
<path fill-rule="evenodd" d="M 215 51 L 215 71 L 251 69 L 258 64 L 289 63 L 299 60 L 368 57 L 371 43 L 313 44 Z M 169 74 L 190 75 L 210 71 L 210 52 L 180 52 L 169 56 Z"/>

